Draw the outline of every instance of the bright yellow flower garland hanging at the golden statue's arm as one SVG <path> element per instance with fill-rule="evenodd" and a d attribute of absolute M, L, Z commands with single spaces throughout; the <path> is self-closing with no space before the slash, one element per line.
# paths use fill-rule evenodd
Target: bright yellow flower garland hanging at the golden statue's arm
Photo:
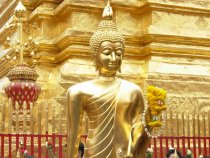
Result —
<path fill-rule="evenodd" d="M 150 127 L 160 127 L 162 122 L 159 115 L 167 109 L 165 104 L 167 92 L 164 89 L 149 86 L 147 88 L 147 101 L 151 111 L 152 120 L 148 123 Z"/>

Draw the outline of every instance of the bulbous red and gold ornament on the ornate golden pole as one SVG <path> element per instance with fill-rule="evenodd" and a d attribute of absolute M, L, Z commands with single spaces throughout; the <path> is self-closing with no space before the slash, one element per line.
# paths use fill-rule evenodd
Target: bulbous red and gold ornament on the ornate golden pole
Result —
<path fill-rule="evenodd" d="M 10 84 L 5 88 L 8 98 L 11 98 L 13 108 L 15 102 L 18 102 L 20 109 L 24 102 L 27 104 L 27 109 L 30 109 L 30 104 L 35 103 L 38 99 L 41 88 L 36 84 L 38 74 L 28 65 L 17 65 L 11 69 L 7 75 Z"/>

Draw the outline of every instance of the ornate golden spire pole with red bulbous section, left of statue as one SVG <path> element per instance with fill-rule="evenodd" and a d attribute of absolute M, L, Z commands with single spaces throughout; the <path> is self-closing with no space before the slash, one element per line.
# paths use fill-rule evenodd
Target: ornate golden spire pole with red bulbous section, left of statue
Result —
<path fill-rule="evenodd" d="M 8 41 L 7 47 L 15 50 L 20 57 L 20 61 L 7 74 L 10 84 L 5 87 L 5 93 L 8 99 L 11 100 L 11 106 L 15 110 L 13 115 L 16 116 L 16 120 L 13 125 L 16 126 L 16 133 L 20 132 L 19 129 L 25 133 L 26 115 L 30 114 L 27 111 L 30 111 L 32 105 L 35 104 L 41 89 L 35 82 L 38 78 L 37 72 L 23 61 L 24 54 L 34 54 L 33 51 L 36 48 L 36 44 L 32 40 L 32 37 L 29 37 L 27 42 L 23 41 L 23 19 L 26 15 L 26 8 L 21 2 L 15 8 L 14 15 L 17 18 L 16 25 L 18 27 L 19 39 L 14 45 L 10 45 Z M 23 118 L 23 121 L 19 118 Z"/>

